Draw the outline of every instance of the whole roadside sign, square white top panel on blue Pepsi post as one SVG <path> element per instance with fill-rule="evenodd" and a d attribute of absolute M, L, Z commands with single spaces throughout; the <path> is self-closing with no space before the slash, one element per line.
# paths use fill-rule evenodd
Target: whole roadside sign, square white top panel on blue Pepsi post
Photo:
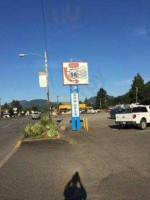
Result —
<path fill-rule="evenodd" d="M 81 129 L 79 109 L 79 86 L 88 85 L 88 63 L 87 62 L 64 62 L 63 82 L 70 86 L 70 100 L 72 113 L 72 130 Z"/>

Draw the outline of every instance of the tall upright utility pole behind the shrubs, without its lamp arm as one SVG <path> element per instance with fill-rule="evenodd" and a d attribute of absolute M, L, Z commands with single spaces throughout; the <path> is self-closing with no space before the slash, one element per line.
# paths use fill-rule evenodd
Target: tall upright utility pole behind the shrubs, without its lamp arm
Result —
<path fill-rule="evenodd" d="M 50 97 L 49 97 L 49 75 L 48 75 L 47 51 L 44 52 L 44 61 L 45 61 L 45 72 L 46 72 L 46 82 L 47 82 L 47 109 L 48 109 L 48 115 L 50 118 L 51 105 L 50 105 Z"/>

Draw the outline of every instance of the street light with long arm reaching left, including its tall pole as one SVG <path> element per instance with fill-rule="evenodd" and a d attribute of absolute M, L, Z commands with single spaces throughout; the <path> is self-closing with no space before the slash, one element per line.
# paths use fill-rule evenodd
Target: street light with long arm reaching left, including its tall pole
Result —
<path fill-rule="evenodd" d="M 50 117 L 50 97 L 49 97 L 49 77 L 48 77 L 48 59 L 47 59 L 47 51 L 44 51 L 44 56 L 38 53 L 20 53 L 19 57 L 25 57 L 25 56 L 39 56 L 44 58 L 44 64 L 45 64 L 45 72 L 46 72 L 46 82 L 47 82 L 47 109 Z"/>

